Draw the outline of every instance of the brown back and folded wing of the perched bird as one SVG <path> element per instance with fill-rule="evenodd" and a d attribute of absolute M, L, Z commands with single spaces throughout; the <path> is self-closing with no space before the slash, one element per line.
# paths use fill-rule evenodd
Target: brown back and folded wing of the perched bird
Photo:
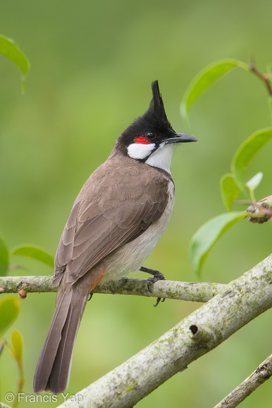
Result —
<path fill-rule="evenodd" d="M 144 177 L 145 168 L 141 163 L 130 166 L 129 161 L 125 166 L 124 160 L 111 160 L 87 180 L 60 238 L 54 284 L 64 271 L 76 282 L 159 219 L 168 202 L 170 177 L 153 168 L 151 177 Z"/>

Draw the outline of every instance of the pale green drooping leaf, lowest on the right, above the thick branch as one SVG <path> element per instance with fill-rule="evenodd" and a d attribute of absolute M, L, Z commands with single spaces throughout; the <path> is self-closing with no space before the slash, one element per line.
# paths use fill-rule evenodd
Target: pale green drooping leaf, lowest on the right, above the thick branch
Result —
<path fill-rule="evenodd" d="M 190 242 L 190 259 L 196 275 L 200 276 L 205 258 L 220 236 L 242 218 L 245 212 L 227 212 L 207 221 L 196 231 Z"/>

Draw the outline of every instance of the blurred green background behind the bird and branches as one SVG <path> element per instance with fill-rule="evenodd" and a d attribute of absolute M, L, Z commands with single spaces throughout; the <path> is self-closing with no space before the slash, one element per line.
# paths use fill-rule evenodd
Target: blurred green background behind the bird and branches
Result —
<path fill-rule="evenodd" d="M 148 108 L 158 79 L 176 131 L 197 144 L 177 149 L 172 174 L 177 195 L 172 219 L 147 267 L 169 280 L 194 281 L 188 244 L 206 220 L 224 212 L 218 182 L 253 131 L 270 126 L 267 94 L 251 73 L 231 71 L 196 103 L 185 128 L 179 104 L 200 69 L 238 58 L 266 70 L 272 62 L 272 3 L 177 0 L 2 0 L 0 33 L 31 62 L 25 95 L 18 69 L 0 56 L 0 230 L 10 248 L 39 245 L 54 254 L 73 200 L 106 159 L 118 135 Z M 271 191 L 271 144 L 248 174 L 264 172 L 258 199 Z M 240 207 L 236 206 L 236 209 Z M 228 231 L 207 259 L 203 280 L 229 282 L 271 252 L 271 223 L 244 221 Z M 13 275 L 52 274 L 38 262 Z M 143 277 L 143 273 L 137 275 Z M 52 294 L 30 294 L 14 327 L 25 343 L 24 391 L 32 394 L 38 354 L 54 310 Z M 120 365 L 199 304 L 95 295 L 85 310 L 67 392 Z M 9 337 L 9 334 L 6 336 Z M 162 385 L 137 406 L 212 407 L 271 354 L 271 311 Z M 17 372 L 1 356 L 1 400 L 16 389 Z M 271 382 L 241 407 L 271 407 Z M 63 397 L 58 398 L 58 404 Z M 46 407 L 56 407 L 46 403 Z M 45 403 L 21 403 L 41 407 Z"/>

